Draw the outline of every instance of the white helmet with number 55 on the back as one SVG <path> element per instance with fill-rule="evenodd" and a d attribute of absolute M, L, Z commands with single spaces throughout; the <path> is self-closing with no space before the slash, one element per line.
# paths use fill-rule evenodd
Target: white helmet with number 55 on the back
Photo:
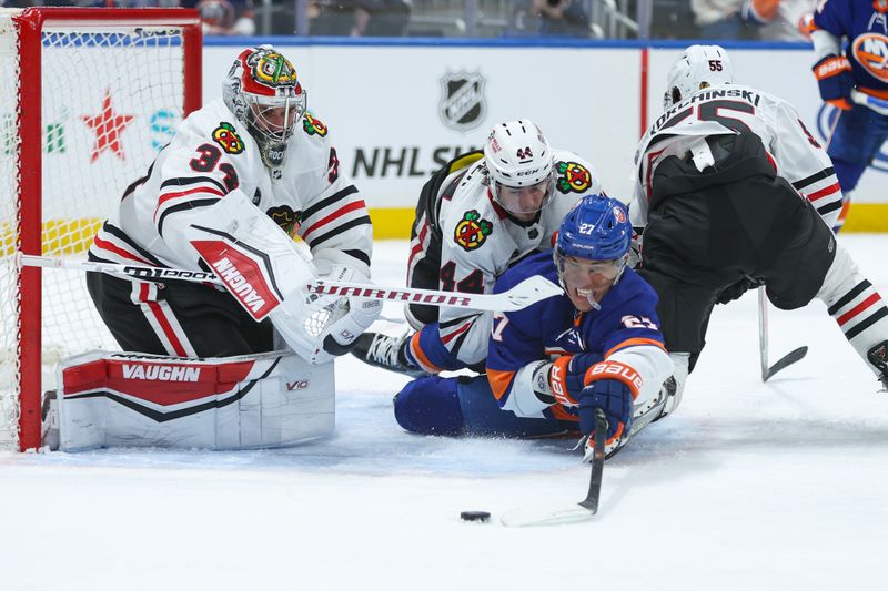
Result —
<path fill-rule="evenodd" d="M 670 108 L 700 89 L 734 83 L 734 68 L 720 45 L 690 45 L 673 63 L 663 106 Z"/>

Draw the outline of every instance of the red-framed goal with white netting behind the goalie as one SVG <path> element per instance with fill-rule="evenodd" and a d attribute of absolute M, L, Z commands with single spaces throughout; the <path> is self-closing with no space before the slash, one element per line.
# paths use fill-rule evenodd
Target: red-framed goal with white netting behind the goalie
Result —
<path fill-rule="evenodd" d="M 115 347 L 84 274 L 19 269 L 16 254 L 85 254 L 200 108 L 201 44 L 194 10 L 0 10 L 0 449 L 40 446 L 59 355 Z"/>

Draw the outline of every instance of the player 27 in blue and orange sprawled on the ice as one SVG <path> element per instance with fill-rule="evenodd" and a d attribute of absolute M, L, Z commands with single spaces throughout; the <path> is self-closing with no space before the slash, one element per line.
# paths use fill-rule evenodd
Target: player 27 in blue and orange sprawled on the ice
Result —
<path fill-rule="evenodd" d="M 561 282 L 564 295 L 496 315 L 486 376 L 407 384 L 394 401 L 398 424 L 435 435 L 589 434 L 602 409 L 614 451 L 673 410 L 674 390 L 662 388 L 674 366 L 657 327 L 657 296 L 627 267 L 630 240 L 625 205 L 584 197 L 562 222 L 555 251 L 526 258 L 494 287 L 542 275 Z"/>

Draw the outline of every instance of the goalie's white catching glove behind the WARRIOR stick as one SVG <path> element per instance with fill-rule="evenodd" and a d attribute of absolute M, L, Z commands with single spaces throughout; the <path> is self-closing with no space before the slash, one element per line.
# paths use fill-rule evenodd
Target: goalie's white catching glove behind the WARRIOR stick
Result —
<path fill-rule="evenodd" d="M 342 265 L 334 265 L 330 273 L 319 278 L 369 285 L 371 283 L 360 271 Z M 381 312 L 382 300 L 380 299 L 342 297 L 332 303 L 330 318 L 320 336 L 324 351 L 331 356 L 349 353 L 354 347 L 357 337 L 370 328 Z"/>

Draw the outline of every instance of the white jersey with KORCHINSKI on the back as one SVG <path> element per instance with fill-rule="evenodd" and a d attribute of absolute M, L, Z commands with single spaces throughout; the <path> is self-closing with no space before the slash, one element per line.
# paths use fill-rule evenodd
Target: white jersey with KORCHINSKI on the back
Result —
<path fill-rule="evenodd" d="M 637 176 L 633 226 L 647 225 L 650 181 L 666 156 L 683 157 L 700 140 L 751 131 L 761 139 L 777 174 L 807 197 L 829 227 L 841 211 L 841 190 L 826 151 L 788 102 L 749 86 L 724 84 L 700 90 L 657 119 L 635 154 Z"/>

